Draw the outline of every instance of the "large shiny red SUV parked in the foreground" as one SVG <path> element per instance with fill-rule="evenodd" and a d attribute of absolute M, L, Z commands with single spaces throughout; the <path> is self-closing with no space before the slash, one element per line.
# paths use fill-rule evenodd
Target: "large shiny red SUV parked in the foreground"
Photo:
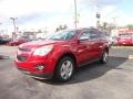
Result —
<path fill-rule="evenodd" d="M 96 29 L 64 30 L 22 44 L 16 55 L 17 68 L 35 78 L 69 80 L 75 68 L 100 61 L 106 63 L 109 43 Z"/>

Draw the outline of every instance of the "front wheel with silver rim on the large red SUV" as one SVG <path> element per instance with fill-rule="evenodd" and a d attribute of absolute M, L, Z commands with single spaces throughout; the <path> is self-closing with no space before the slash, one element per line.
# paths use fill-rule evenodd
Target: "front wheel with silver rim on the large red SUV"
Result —
<path fill-rule="evenodd" d="M 74 61 L 71 57 L 63 57 L 59 61 L 55 69 L 55 79 L 59 81 L 68 81 L 74 73 Z"/>

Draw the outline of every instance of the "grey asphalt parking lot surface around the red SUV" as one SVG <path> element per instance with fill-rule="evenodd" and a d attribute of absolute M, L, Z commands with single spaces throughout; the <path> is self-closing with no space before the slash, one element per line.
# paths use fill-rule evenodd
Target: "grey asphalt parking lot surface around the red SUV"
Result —
<path fill-rule="evenodd" d="M 0 50 L 9 56 L 0 59 L 0 99 L 133 99 L 133 50 L 110 50 L 108 64 L 81 67 L 68 82 L 23 75 L 13 63 L 17 47 Z"/>

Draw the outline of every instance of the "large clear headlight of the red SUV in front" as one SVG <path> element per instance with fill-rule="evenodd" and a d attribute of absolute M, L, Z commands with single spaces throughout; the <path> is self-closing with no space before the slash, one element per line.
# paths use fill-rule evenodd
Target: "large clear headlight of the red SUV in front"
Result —
<path fill-rule="evenodd" d="M 34 51 L 33 55 L 44 56 L 53 50 L 53 45 L 42 46 Z"/>

